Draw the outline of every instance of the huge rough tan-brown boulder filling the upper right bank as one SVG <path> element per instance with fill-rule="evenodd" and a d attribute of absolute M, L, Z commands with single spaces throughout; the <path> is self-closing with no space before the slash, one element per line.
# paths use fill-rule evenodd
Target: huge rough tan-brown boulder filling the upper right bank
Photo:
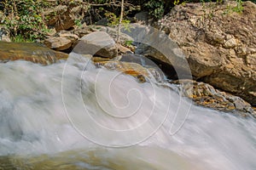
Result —
<path fill-rule="evenodd" d="M 182 48 L 196 80 L 256 104 L 256 4 L 244 2 L 242 13 L 233 12 L 235 7 L 236 2 L 178 5 L 159 27 Z M 145 53 L 166 62 L 154 50 Z"/>

